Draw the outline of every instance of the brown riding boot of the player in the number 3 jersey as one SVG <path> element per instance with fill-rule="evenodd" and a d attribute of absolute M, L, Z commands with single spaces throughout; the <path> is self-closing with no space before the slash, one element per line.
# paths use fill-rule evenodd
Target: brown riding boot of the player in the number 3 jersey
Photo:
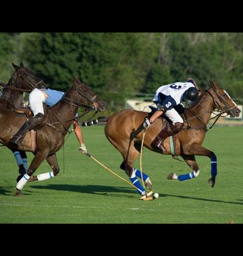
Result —
<path fill-rule="evenodd" d="M 179 122 L 175 123 L 175 124 L 169 124 L 167 122 L 167 124 L 165 124 L 165 126 L 162 128 L 161 132 L 159 132 L 159 134 L 153 141 L 152 145 L 159 147 L 159 149 L 161 149 L 162 151 L 165 152 L 166 149 L 165 149 L 165 146 L 163 145 L 165 138 L 180 132 L 180 130 L 182 130 L 182 128 L 183 128 L 183 125 L 184 124 L 179 123 Z"/>

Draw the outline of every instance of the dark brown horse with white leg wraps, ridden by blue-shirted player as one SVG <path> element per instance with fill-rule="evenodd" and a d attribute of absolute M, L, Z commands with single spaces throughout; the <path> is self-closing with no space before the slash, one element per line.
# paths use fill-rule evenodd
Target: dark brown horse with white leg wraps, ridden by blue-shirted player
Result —
<path fill-rule="evenodd" d="M 23 176 L 16 186 L 16 195 L 21 195 L 21 190 L 26 183 L 26 179 L 34 174 L 38 166 L 45 159 L 47 159 L 53 172 L 40 174 L 37 176 L 37 179 L 46 180 L 47 178 L 57 176 L 59 165 L 55 153 L 61 149 L 65 134 L 67 134 L 68 129 L 75 119 L 78 107 L 84 107 L 90 111 L 91 109 L 96 109 L 94 108 L 94 103 L 97 105 L 97 110 L 102 111 L 105 109 L 105 103 L 100 101 L 97 95 L 76 77 L 73 81 L 73 86 L 68 89 L 61 100 L 53 107 L 45 108 L 47 113 L 45 126 L 36 131 L 34 158 L 30 163 L 27 174 Z M 24 122 L 26 122 L 25 116 L 15 116 L 11 111 L 2 113 L 0 120 L 0 142 L 7 147 L 11 147 L 11 143 L 9 143 L 11 136 L 16 134 Z M 22 141 L 22 147 L 17 147 L 16 149 L 33 152 L 30 132 L 26 134 Z"/>

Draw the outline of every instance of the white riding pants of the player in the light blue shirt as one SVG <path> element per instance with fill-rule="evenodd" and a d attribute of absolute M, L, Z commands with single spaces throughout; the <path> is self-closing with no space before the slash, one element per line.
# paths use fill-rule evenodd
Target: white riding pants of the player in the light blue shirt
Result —
<path fill-rule="evenodd" d="M 35 88 L 29 95 L 30 109 L 34 116 L 38 113 L 43 113 L 44 115 L 43 102 L 45 102 L 44 93 Z"/>

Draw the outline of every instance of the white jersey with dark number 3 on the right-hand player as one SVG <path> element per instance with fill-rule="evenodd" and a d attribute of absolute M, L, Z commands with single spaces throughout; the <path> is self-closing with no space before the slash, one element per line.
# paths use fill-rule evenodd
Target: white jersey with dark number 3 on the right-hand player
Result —
<path fill-rule="evenodd" d="M 160 86 L 155 93 L 153 102 L 155 103 L 161 102 L 159 93 L 162 93 L 163 95 L 165 95 L 165 97 L 166 96 L 172 97 L 176 105 L 178 105 L 182 103 L 183 95 L 185 91 L 188 90 L 188 88 L 190 87 L 194 87 L 194 84 L 192 84 L 192 82 L 174 82 L 173 84 Z"/>

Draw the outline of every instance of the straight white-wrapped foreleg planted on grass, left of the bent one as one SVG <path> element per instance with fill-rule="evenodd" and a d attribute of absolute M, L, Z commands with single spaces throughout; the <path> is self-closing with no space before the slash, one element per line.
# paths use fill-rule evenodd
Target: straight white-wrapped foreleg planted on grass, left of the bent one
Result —
<path fill-rule="evenodd" d="M 47 157 L 48 153 L 45 151 L 37 152 L 34 156 L 32 162 L 30 163 L 30 167 L 27 170 L 27 174 L 24 174 L 24 176 L 20 179 L 20 181 L 16 185 L 16 196 L 21 195 L 21 190 L 24 187 L 24 185 L 28 182 L 32 174 L 36 171 L 38 166 L 44 161 L 44 159 Z"/>

